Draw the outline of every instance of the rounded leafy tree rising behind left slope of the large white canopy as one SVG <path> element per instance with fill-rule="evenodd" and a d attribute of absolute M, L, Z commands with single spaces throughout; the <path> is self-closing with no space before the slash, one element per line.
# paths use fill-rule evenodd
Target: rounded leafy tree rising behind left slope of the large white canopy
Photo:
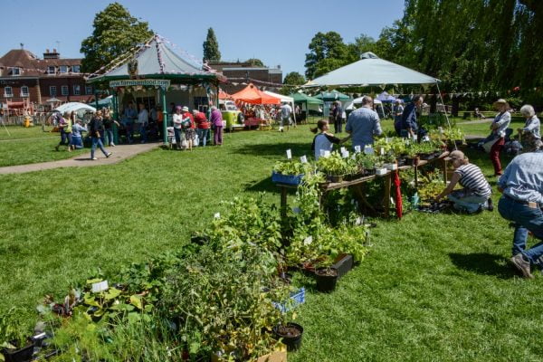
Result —
<path fill-rule="evenodd" d="M 348 47 L 336 32 L 316 33 L 306 53 L 306 77 L 313 79 L 348 63 Z"/>

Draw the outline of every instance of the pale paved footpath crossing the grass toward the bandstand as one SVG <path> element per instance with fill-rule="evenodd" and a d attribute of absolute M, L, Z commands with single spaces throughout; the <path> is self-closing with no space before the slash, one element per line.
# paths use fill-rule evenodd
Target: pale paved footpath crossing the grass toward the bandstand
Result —
<path fill-rule="evenodd" d="M 0 175 L 2 174 L 23 174 L 25 172 L 42 171 L 51 168 L 60 167 L 91 167 L 101 165 L 112 165 L 119 163 L 124 159 L 134 157 L 140 153 L 147 152 L 150 149 L 158 148 L 162 143 L 144 143 L 137 145 L 119 145 L 114 148 L 106 148 L 108 151 L 113 152 L 109 158 L 106 158 L 100 151 L 100 148 L 94 153 L 94 157 L 98 159 L 95 161 L 90 160 L 90 152 L 83 153 L 73 158 L 62 159 L 60 161 L 42 162 L 39 164 L 29 165 L 17 165 L 0 167 Z M 61 151 L 62 152 L 62 151 Z"/>

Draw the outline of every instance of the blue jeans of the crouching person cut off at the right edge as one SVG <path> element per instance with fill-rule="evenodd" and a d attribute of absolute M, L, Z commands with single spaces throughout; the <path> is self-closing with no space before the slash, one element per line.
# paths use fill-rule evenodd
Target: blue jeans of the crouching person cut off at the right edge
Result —
<path fill-rule="evenodd" d="M 512 254 L 522 252 L 528 260 L 539 266 L 543 266 L 543 242 L 539 242 L 526 250 L 528 232 L 532 232 L 536 238 L 543 240 L 543 212 L 540 208 L 531 208 L 506 196 L 501 196 L 498 203 L 498 211 L 501 217 L 516 224 L 513 236 Z"/>

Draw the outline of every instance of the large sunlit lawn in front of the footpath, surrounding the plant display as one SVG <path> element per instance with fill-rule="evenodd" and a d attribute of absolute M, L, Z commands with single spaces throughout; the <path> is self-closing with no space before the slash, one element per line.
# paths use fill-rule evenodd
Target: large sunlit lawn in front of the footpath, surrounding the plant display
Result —
<path fill-rule="evenodd" d="M 287 148 L 309 154 L 312 137 L 307 126 L 237 132 L 221 148 L 0 176 L 0 314 L 17 306 L 34 320 L 44 294 L 64 295 L 90 269 L 176 249 L 224 210 L 221 200 L 265 191 L 278 203 L 273 163 Z M 486 155 L 469 156 L 492 173 Z M 543 278 L 525 281 L 510 268 L 512 229 L 497 211 L 376 223 L 372 251 L 338 290 L 308 293 L 303 345 L 290 361 L 543 358 Z"/>

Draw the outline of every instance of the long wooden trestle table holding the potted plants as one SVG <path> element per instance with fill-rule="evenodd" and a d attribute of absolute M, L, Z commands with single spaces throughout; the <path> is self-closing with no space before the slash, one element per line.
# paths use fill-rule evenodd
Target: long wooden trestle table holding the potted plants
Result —
<path fill-rule="evenodd" d="M 406 166 L 398 167 L 397 170 L 394 170 L 394 171 L 387 170 L 385 175 L 369 175 L 369 176 L 359 177 L 351 181 L 331 182 L 328 184 L 322 184 L 320 189 L 322 191 L 322 194 L 324 195 L 327 192 L 332 191 L 332 190 L 338 190 L 340 188 L 351 187 L 354 189 L 355 193 L 362 200 L 364 200 L 365 195 L 362 193 L 361 186 L 363 186 L 365 183 L 369 181 L 375 180 L 376 178 L 384 177 L 385 178 L 385 197 L 383 199 L 383 207 L 385 210 L 384 215 L 386 218 L 388 218 L 390 215 L 390 194 L 391 194 L 391 189 L 392 189 L 392 176 L 396 172 L 414 168 L 414 184 L 415 184 L 415 187 L 418 187 L 418 168 L 433 164 L 434 162 L 441 161 L 442 170 L 443 170 L 443 180 L 446 184 L 447 183 L 447 162 L 451 159 L 448 156 L 449 156 L 449 152 L 443 152 L 439 157 L 435 157 L 430 160 L 421 159 L 414 166 L 406 165 Z M 298 186 L 287 185 L 287 184 L 276 184 L 276 186 L 278 186 L 281 189 L 281 217 L 284 219 L 287 216 L 287 206 L 288 206 L 287 190 L 289 188 L 298 188 Z"/>

